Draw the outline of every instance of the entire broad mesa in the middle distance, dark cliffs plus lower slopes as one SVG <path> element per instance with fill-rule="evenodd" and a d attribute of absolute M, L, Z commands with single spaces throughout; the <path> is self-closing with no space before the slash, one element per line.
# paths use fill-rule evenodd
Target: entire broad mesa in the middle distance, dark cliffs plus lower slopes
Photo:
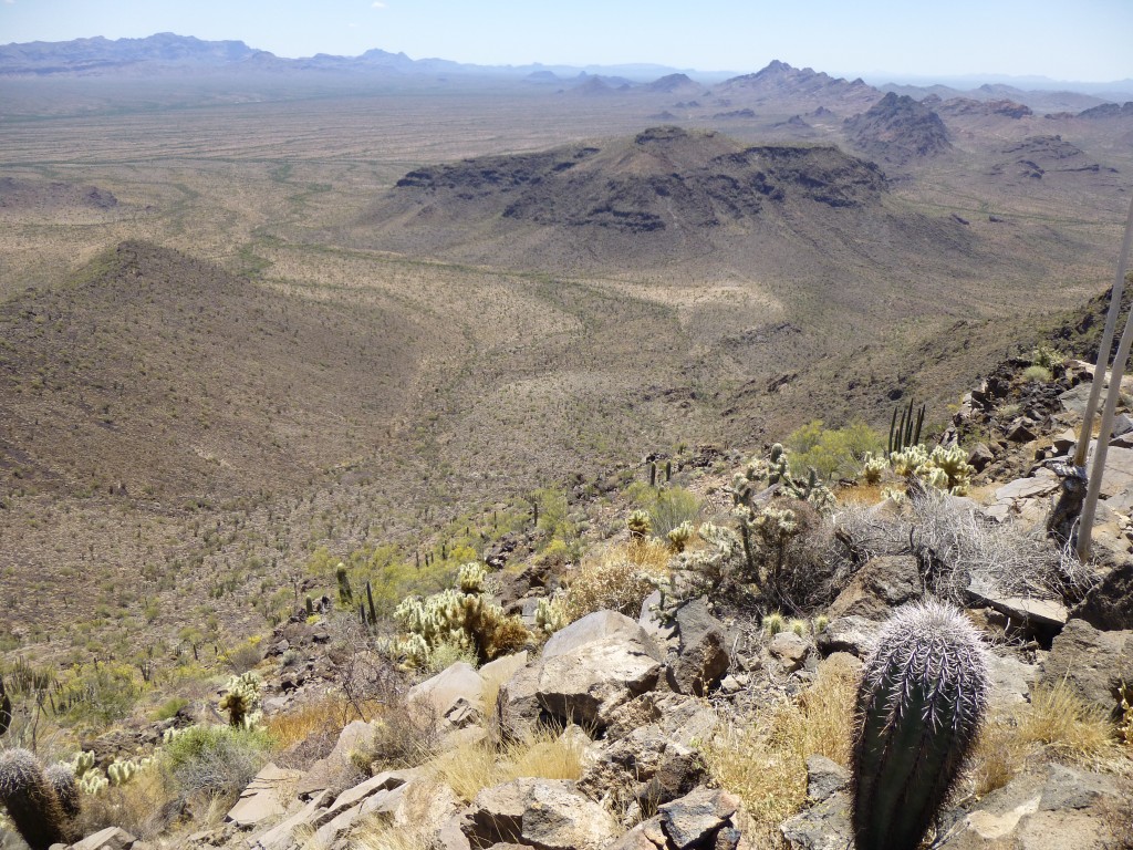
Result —
<path fill-rule="evenodd" d="M 344 235 L 412 255 L 552 273 L 898 278 L 974 273 L 976 239 L 888 203 L 885 175 L 837 147 L 744 145 L 656 127 L 410 171 Z M 956 263 L 964 266 L 955 267 Z"/>

